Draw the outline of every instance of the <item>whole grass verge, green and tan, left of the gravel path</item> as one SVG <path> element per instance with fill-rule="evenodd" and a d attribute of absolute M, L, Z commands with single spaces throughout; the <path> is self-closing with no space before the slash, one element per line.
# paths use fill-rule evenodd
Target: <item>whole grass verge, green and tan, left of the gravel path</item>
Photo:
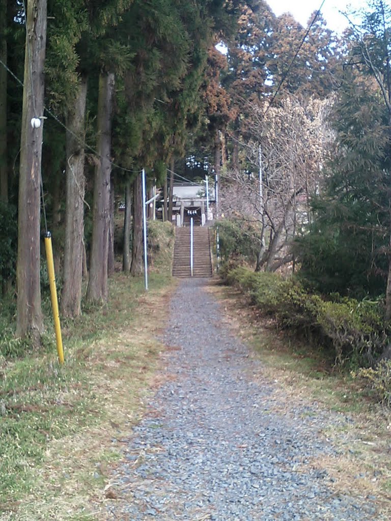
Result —
<path fill-rule="evenodd" d="M 170 276 L 115 274 L 109 301 L 53 339 L 0 361 L 0 519 L 104 519 L 108 473 L 156 383 Z M 85 310 L 87 311 L 87 310 Z"/>

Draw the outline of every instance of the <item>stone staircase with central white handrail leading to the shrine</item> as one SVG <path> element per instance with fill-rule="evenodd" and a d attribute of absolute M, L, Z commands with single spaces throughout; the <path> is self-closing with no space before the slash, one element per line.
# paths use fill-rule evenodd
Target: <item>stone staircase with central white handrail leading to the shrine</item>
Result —
<path fill-rule="evenodd" d="M 191 277 L 190 228 L 175 229 L 173 277 Z M 193 228 L 193 277 L 212 277 L 209 228 Z"/>

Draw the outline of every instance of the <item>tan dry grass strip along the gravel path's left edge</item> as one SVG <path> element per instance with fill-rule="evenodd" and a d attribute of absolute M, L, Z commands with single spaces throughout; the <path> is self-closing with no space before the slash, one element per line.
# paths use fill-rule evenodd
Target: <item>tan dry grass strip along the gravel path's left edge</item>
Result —
<path fill-rule="evenodd" d="M 120 460 L 146 398 L 160 383 L 156 369 L 164 348 L 156 336 L 165 325 L 172 289 L 171 284 L 142 294 L 130 324 L 79 348 L 89 378 L 88 389 L 79 386 L 77 392 L 78 400 L 85 394 L 87 418 L 73 435 L 48 441 L 43 464 L 33 469 L 31 492 L 3 504 L 2 521 L 107 518 L 112 466 Z M 71 403 L 74 392 L 58 399 Z"/>

